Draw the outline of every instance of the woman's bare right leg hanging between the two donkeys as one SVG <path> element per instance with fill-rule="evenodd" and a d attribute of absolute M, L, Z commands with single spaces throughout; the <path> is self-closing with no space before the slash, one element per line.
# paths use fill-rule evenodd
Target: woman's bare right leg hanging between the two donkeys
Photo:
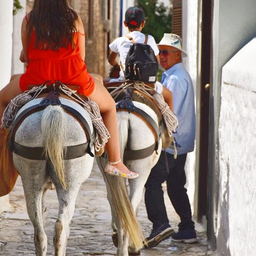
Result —
<path fill-rule="evenodd" d="M 89 98 L 98 104 L 103 122 L 110 134 L 110 138 L 106 144 L 109 162 L 116 162 L 121 158 L 119 150 L 116 103 L 107 89 L 103 86 L 102 77 L 95 74 L 93 74 L 92 77 L 95 82 L 95 88 Z M 129 169 L 123 164 L 123 162 L 117 163 L 115 167 L 124 173 L 130 173 Z"/>

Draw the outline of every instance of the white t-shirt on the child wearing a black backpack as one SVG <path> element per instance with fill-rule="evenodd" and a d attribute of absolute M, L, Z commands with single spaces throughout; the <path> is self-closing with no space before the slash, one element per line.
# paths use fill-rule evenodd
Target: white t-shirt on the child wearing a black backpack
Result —
<path fill-rule="evenodd" d="M 140 31 L 132 31 L 129 34 L 127 34 L 127 36 L 130 36 L 133 38 L 133 40 L 136 43 L 144 43 L 145 42 L 145 34 L 141 33 Z M 128 53 L 128 51 L 130 50 L 130 47 L 133 43 L 126 37 L 126 36 L 122 36 L 122 37 L 118 37 L 116 38 L 110 45 L 109 48 L 111 51 L 119 53 L 120 55 L 120 60 L 122 62 L 122 65 L 125 69 L 125 59 L 126 59 L 126 55 Z M 148 45 L 151 46 L 151 48 L 153 49 L 155 55 L 159 54 L 159 50 L 158 47 L 156 45 L 156 41 L 154 39 L 153 36 L 148 35 Z M 119 73 L 120 77 L 118 78 L 119 81 L 124 80 L 124 73 L 123 70 L 121 68 L 121 71 Z"/>

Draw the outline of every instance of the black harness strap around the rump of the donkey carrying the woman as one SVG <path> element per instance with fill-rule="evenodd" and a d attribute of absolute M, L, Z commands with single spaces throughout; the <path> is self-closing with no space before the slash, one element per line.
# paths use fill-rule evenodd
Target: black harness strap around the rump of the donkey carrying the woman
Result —
<path fill-rule="evenodd" d="M 81 121 L 82 125 L 84 126 L 85 130 L 89 134 L 89 141 L 83 143 L 81 145 L 76 146 L 69 146 L 66 147 L 66 154 L 64 159 L 73 159 L 77 157 L 84 156 L 85 154 L 89 154 L 90 156 L 94 157 L 92 153 L 93 149 L 93 133 L 91 132 L 90 126 L 87 123 L 86 119 L 75 109 L 64 105 L 60 102 L 58 97 L 58 92 L 51 91 L 46 98 L 44 98 L 39 104 L 31 106 L 25 110 L 23 110 L 19 116 L 15 119 L 12 124 L 11 132 L 10 132 L 10 143 L 9 148 L 13 151 L 13 153 L 25 157 L 27 159 L 34 159 L 34 160 L 45 160 L 44 155 L 44 148 L 42 147 L 25 147 L 19 145 L 17 142 L 14 141 L 15 133 L 18 129 L 18 126 L 23 119 L 25 119 L 28 115 L 45 109 L 49 105 L 60 105 L 63 109 L 65 109 L 68 113 L 73 114 L 79 121 Z"/>

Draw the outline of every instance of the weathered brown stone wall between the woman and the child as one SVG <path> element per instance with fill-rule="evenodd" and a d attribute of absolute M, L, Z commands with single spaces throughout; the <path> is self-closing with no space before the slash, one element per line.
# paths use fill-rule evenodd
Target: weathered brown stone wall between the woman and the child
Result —
<path fill-rule="evenodd" d="M 85 63 L 89 73 L 106 77 L 108 44 L 118 37 L 118 0 L 73 0 L 85 28 Z"/>

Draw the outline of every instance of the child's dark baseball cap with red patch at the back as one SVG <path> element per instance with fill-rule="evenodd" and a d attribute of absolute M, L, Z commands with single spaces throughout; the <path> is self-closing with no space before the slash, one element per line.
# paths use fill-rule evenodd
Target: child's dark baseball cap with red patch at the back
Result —
<path fill-rule="evenodd" d="M 125 22 L 129 27 L 138 27 L 145 20 L 145 13 L 141 7 L 132 6 L 125 12 Z"/>

